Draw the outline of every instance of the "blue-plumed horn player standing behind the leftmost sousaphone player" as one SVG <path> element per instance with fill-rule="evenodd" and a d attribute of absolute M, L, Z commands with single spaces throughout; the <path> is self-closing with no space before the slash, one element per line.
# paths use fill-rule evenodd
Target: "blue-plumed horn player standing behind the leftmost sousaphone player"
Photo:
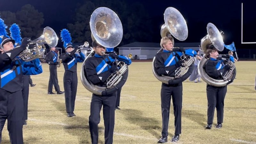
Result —
<path fill-rule="evenodd" d="M 77 90 L 77 62 L 83 62 L 85 59 L 84 53 L 80 51 L 78 45 L 73 48 L 71 43 L 71 36 L 67 29 L 62 29 L 60 33 L 61 40 L 63 41 L 63 47 L 66 49 L 66 53 L 61 55 L 65 73 L 63 77 L 64 91 L 65 91 L 65 103 L 68 117 L 76 116 L 74 114 L 76 90 Z M 79 54 L 75 54 L 79 49 Z"/>

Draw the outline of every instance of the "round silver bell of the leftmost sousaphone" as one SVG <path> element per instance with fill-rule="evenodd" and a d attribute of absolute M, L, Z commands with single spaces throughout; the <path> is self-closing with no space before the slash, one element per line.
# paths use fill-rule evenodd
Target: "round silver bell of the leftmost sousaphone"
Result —
<path fill-rule="evenodd" d="M 116 47 L 123 38 L 123 25 L 117 14 L 107 7 L 99 7 L 91 15 L 92 39 L 104 47 Z"/>

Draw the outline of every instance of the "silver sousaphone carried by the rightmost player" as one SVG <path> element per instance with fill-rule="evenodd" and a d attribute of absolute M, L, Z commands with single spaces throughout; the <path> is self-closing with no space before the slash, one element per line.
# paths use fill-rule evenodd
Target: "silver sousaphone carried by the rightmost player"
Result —
<path fill-rule="evenodd" d="M 204 36 L 204 38 L 202 38 L 201 40 L 201 48 L 203 52 L 206 54 L 207 49 L 212 44 L 218 51 L 223 51 L 224 42 L 218 28 L 212 23 L 208 23 L 206 28 L 207 28 L 207 35 Z M 210 84 L 213 86 L 225 86 L 228 83 L 233 82 L 233 80 L 235 79 L 235 76 L 236 76 L 235 64 L 225 58 L 222 58 L 222 59 L 226 64 L 231 66 L 231 69 L 228 70 L 228 72 L 222 76 L 223 77 L 222 80 L 214 79 L 207 75 L 204 69 L 204 65 L 208 59 L 205 56 L 198 63 L 198 66 L 197 66 L 198 74 L 207 84 Z"/>

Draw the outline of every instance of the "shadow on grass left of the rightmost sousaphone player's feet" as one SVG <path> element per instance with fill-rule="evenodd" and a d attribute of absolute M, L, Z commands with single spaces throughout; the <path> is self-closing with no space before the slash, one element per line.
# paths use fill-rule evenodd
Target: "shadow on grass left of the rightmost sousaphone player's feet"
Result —
<path fill-rule="evenodd" d="M 207 112 L 207 109 L 206 109 Z M 205 115 L 196 112 L 195 110 L 182 109 L 182 117 L 186 117 L 199 125 L 205 126 L 207 119 L 204 118 Z"/>

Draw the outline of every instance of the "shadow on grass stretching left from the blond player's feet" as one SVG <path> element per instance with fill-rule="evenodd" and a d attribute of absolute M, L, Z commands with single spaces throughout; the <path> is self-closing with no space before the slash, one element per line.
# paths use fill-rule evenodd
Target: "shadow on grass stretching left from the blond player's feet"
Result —
<path fill-rule="evenodd" d="M 156 138 L 161 136 L 162 128 L 161 125 L 162 119 L 157 120 L 156 118 L 149 118 L 143 116 L 143 112 L 136 109 L 122 109 L 122 112 L 126 116 L 126 119 L 131 124 L 139 125 L 143 130 L 150 132 Z"/>

